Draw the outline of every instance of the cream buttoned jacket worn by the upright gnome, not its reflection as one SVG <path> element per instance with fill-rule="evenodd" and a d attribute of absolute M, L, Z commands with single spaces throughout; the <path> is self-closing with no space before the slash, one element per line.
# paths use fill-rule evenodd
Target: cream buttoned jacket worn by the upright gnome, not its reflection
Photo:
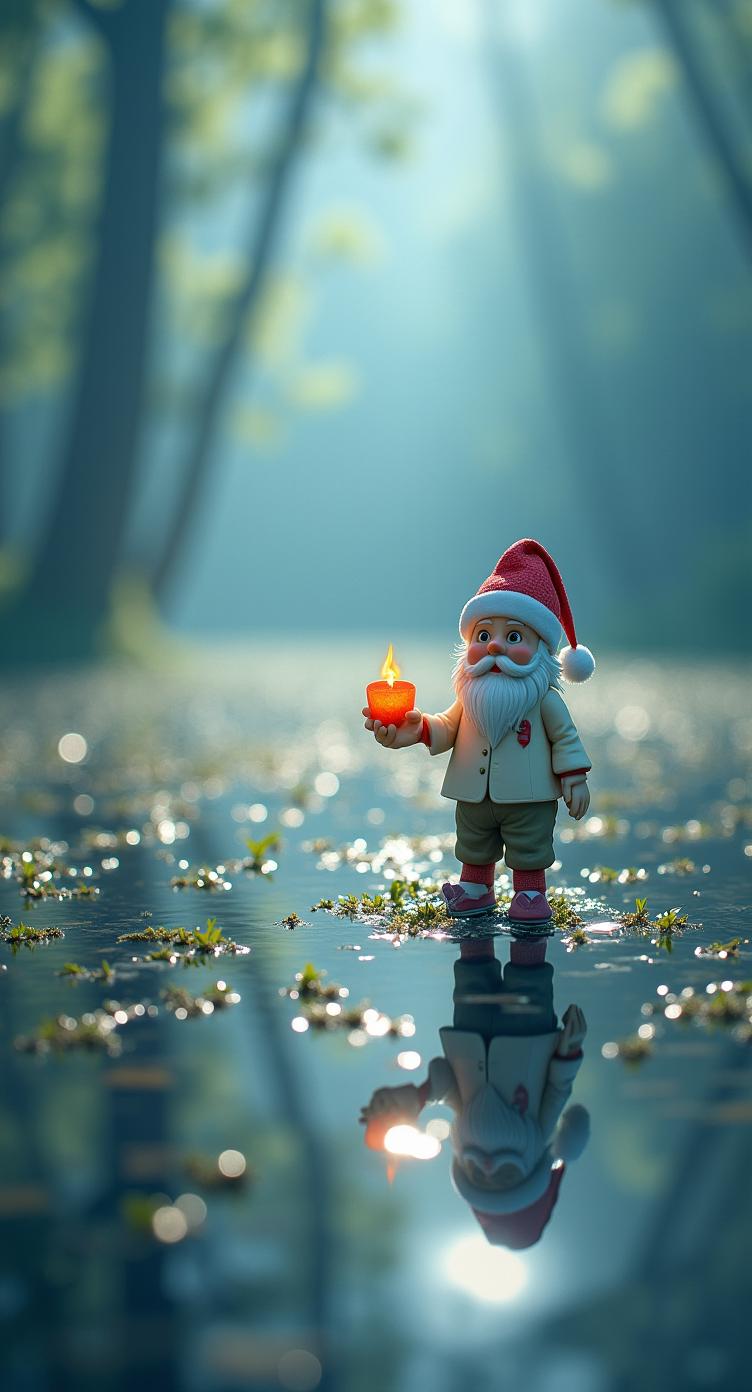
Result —
<path fill-rule="evenodd" d="M 426 720 L 430 753 L 451 749 L 441 795 L 455 802 L 483 802 L 486 793 L 492 802 L 549 802 L 561 798 L 561 774 L 590 768 L 572 717 L 553 686 L 494 749 L 460 700 Z"/>

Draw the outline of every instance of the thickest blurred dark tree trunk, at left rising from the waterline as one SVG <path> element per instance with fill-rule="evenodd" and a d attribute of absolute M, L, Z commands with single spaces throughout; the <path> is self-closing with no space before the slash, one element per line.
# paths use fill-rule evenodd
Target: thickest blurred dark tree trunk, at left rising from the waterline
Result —
<path fill-rule="evenodd" d="M 164 143 L 170 0 L 77 8 L 110 65 L 110 131 L 99 245 L 74 387 L 71 427 L 46 532 L 6 649 L 33 658 L 96 650 L 127 521 L 143 408 L 149 309 Z"/>

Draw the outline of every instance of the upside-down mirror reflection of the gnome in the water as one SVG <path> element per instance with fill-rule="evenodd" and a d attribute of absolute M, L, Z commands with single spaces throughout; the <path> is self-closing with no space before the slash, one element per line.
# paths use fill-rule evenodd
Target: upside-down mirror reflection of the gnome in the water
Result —
<path fill-rule="evenodd" d="M 454 1187 L 489 1242 L 531 1247 L 567 1161 L 588 1141 L 585 1108 L 561 1115 L 585 1031 L 577 1005 L 557 1025 L 545 937 L 515 938 L 503 973 L 493 940 L 468 940 L 454 966 L 454 1026 L 441 1030 L 443 1058 L 432 1059 L 421 1087 L 379 1089 L 361 1121 L 383 1132 L 386 1122 L 415 1122 L 426 1102 L 451 1107 Z"/>

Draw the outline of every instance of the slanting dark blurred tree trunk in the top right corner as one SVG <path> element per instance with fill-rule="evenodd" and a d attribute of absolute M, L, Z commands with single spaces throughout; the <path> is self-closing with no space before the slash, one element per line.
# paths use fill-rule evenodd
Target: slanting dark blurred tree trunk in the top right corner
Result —
<path fill-rule="evenodd" d="M 713 86 L 692 33 L 689 7 L 687 0 L 653 0 L 653 6 L 684 78 L 705 145 L 720 168 L 744 251 L 752 256 L 752 181 L 727 128 L 723 110 L 713 96 Z"/>

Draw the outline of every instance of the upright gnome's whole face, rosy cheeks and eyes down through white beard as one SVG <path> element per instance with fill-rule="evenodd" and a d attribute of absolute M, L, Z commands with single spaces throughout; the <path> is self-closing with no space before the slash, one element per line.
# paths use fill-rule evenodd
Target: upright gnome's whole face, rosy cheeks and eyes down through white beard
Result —
<path fill-rule="evenodd" d="M 492 746 L 558 682 L 558 663 L 533 628 L 511 618 L 479 619 L 453 672 L 454 689 Z"/>

